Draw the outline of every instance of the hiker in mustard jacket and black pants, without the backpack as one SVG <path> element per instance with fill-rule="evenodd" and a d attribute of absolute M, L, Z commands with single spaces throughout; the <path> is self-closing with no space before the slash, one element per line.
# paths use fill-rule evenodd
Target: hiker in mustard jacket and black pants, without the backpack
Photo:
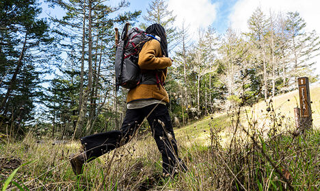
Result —
<path fill-rule="evenodd" d="M 165 29 L 156 23 L 146 29 L 146 34 L 152 36 L 152 40 L 142 47 L 137 63 L 142 71 L 142 79 L 153 77 L 156 83 L 142 83 L 129 90 L 126 97 L 126 116 L 120 131 L 97 133 L 81 138 L 84 151 L 77 155 L 70 155 L 70 163 L 75 175 L 83 173 L 85 162 L 90 162 L 129 142 L 145 117 L 162 156 L 163 176 L 174 175 L 178 166 L 185 170 L 185 165 L 178 158 L 176 139 L 168 107 L 165 105 L 169 103 L 169 97 L 163 85 L 168 72 L 167 68 L 172 65 L 172 59 L 168 58 Z"/>

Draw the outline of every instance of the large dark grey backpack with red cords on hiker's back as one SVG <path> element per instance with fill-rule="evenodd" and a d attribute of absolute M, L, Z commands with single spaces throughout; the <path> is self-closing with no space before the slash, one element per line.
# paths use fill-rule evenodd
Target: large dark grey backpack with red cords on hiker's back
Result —
<path fill-rule="evenodd" d="M 142 73 L 139 68 L 138 55 L 144 43 L 151 40 L 145 31 L 133 27 L 128 31 L 129 23 L 126 23 L 122 30 L 122 35 L 117 44 L 118 29 L 116 29 L 116 90 L 119 86 L 131 89 L 135 88 L 142 79 Z"/>

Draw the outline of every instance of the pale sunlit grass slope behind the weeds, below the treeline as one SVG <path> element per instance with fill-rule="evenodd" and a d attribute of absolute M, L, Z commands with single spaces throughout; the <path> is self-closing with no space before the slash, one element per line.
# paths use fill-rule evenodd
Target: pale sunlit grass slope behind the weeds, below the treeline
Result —
<path fill-rule="evenodd" d="M 310 86 L 310 98 L 312 108 L 312 119 L 315 128 L 320 128 L 320 84 Z M 252 108 L 247 108 L 247 111 L 254 111 L 254 118 L 259 123 L 265 123 L 267 107 L 269 107 L 270 101 L 261 101 L 255 104 Z M 293 108 L 299 107 L 299 94 L 298 90 L 281 94 L 277 97 L 272 98 L 272 105 L 275 113 L 278 116 L 285 116 L 291 122 L 294 120 Z M 245 108 L 243 108 L 245 110 Z M 242 111 L 241 120 L 245 121 L 244 111 Z M 231 117 L 228 114 L 215 114 L 208 116 L 202 120 L 198 120 L 191 125 L 175 129 L 176 138 L 179 140 L 191 140 L 198 144 L 208 144 L 210 142 L 210 128 L 215 127 L 216 129 L 222 129 L 219 133 L 221 138 L 227 138 L 230 129 L 227 131 L 225 127 L 230 126 Z"/>

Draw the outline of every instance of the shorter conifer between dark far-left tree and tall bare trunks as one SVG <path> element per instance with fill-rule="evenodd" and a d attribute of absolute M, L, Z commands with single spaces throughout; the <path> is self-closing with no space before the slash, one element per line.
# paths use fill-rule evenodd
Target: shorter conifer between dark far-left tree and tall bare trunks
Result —
<path fill-rule="evenodd" d="M 68 62 L 59 68 L 61 76 L 51 80 L 42 102 L 47 108 L 47 119 L 52 120 L 52 136 L 55 137 L 57 127 L 61 127 L 60 138 L 70 136 L 75 130 L 77 122 L 77 108 L 79 99 L 79 68 L 75 58 L 68 58 Z"/>

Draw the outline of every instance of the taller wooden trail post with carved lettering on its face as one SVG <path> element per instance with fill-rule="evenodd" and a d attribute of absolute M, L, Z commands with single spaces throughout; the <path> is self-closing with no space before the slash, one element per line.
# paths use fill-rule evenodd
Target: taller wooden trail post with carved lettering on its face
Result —
<path fill-rule="evenodd" d="M 310 103 L 310 90 L 308 77 L 299 77 L 297 79 L 299 86 L 299 100 L 301 111 L 300 128 L 309 129 L 312 127 L 312 112 Z"/>

